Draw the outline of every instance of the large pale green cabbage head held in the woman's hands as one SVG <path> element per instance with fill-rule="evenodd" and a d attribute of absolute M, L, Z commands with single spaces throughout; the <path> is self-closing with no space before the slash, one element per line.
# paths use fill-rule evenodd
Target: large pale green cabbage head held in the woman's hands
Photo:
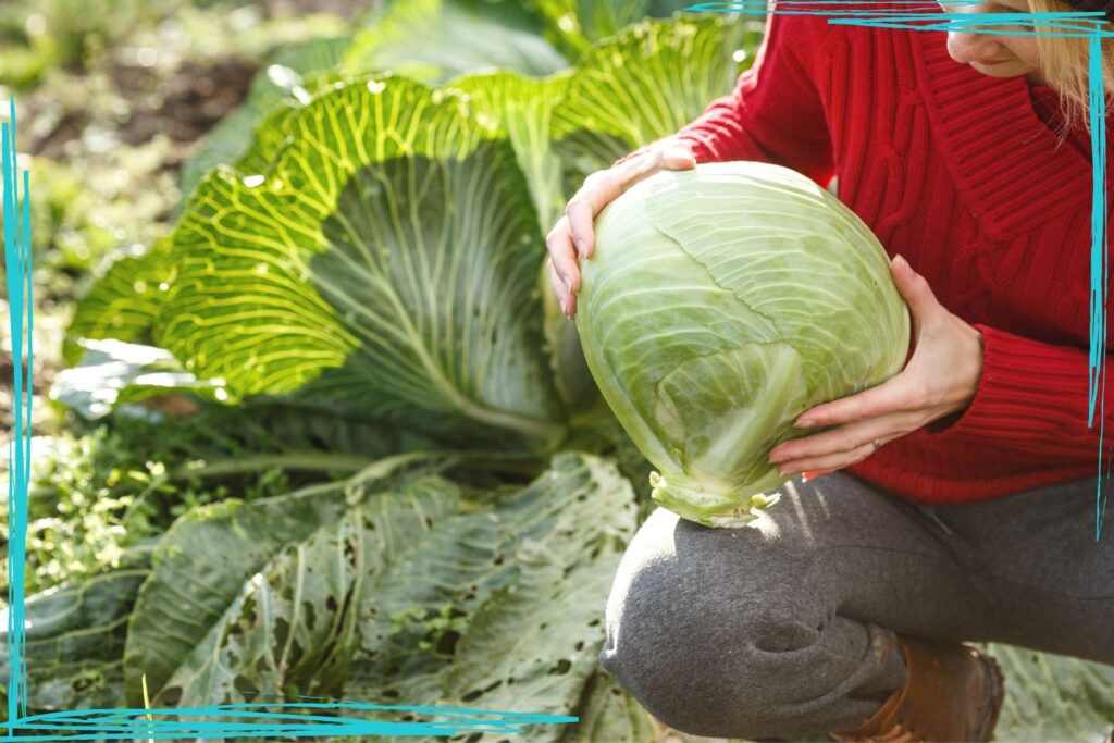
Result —
<path fill-rule="evenodd" d="M 588 368 L 649 462 L 654 500 L 742 526 L 788 481 L 793 421 L 901 370 L 909 312 L 870 229 L 762 163 L 663 170 L 612 202 L 583 262 Z"/>

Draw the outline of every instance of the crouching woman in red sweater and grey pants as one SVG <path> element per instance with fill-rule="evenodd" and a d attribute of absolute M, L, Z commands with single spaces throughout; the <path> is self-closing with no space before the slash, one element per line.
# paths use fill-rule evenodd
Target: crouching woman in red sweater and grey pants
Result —
<path fill-rule="evenodd" d="M 1114 18 L 1101 0 L 948 9 Z M 594 217 L 651 173 L 755 159 L 838 174 L 913 321 L 900 374 L 805 411 L 798 426 L 824 430 L 772 450 L 804 477 L 759 528 L 658 509 L 634 538 L 600 661 L 666 724 L 985 741 L 1001 675 L 965 641 L 1114 664 L 1114 509 L 1096 514 L 1087 426 L 1086 81 L 1082 39 L 772 14 L 731 95 L 569 202 L 547 246 L 573 317 Z M 1114 398 L 1104 410 L 1110 442 Z"/>

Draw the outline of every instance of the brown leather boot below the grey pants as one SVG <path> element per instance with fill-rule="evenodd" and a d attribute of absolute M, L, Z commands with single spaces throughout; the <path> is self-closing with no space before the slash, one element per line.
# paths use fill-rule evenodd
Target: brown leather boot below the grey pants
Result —
<path fill-rule="evenodd" d="M 1001 710 L 1001 671 L 994 658 L 957 643 L 899 637 L 909 680 L 870 720 L 831 731 L 836 741 L 969 743 L 989 741 Z"/>

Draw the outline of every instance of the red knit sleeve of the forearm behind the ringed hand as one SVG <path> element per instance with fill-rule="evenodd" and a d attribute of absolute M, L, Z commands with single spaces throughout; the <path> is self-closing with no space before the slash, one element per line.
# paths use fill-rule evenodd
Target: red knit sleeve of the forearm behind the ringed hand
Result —
<path fill-rule="evenodd" d="M 1017 454 L 1039 452 L 1065 462 L 1095 461 L 1100 417 L 1087 426 L 1088 354 L 1081 349 L 1049 345 L 983 324 L 983 375 L 970 404 L 949 424 L 932 427 L 932 438 L 994 441 Z M 1114 379 L 1110 389 L 1114 391 Z M 1114 444 L 1114 394 L 1105 394 L 1106 454 Z M 1098 401 L 1100 403 L 1102 400 Z"/>

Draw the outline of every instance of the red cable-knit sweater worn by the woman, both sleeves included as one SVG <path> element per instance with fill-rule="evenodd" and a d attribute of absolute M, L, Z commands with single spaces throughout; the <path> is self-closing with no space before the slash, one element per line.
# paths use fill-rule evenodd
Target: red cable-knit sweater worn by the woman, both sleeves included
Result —
<path fill-rule="evenodd" d="M 768 20 L 752 69 L 678 136 L 701 163 L 838 175 L 839 198 L 986 344 L 961 414 L 849 471 L 935 504 L 1094 477 L 1089 136 L 1062 140 L 1048 88 L 952 61 L 942 32 Z M 1110 452 L 1114 394 L 1105 416 Z"/>

